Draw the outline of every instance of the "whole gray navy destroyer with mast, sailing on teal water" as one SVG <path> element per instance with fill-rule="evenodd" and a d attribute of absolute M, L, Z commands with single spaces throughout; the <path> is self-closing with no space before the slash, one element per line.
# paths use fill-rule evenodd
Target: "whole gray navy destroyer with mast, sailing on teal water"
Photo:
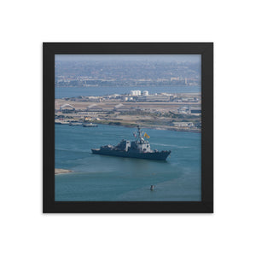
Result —
<path fill-rule="evenodd" d="M 137 137 L 137 140 L 134 142 L 122 140 L 116 146 L 106 145 L 101 148 L 91 149 L 91 151 L 93 154 L 105 154 L 148 160 L 166 160 L 167 156 L 171 154 L 171 150 L 158 151 L 156 149 L 150 149 L 150 144 L 144 139 L 144 137 L 149 138 L 149 136 L 146 132 L 142 135 L 139 125 L 137 126 L 137 135 L 134 133 L 134 137 Z"/>

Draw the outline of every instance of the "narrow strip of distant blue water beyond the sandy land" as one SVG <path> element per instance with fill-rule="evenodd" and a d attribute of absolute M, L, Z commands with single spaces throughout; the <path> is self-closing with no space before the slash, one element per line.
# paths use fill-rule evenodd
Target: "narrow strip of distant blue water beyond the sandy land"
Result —
<path fill-rule="evenodd" d="M 111 94 L 125 94 L 130 90 L 148 90 L 154 93 L 189 93 L 201 92 L 201 85 L 172 85 L 172 86 L 101 86 L 101 87 L 55 87 L 55 99 L 76 96 L 105 96 Z"/>

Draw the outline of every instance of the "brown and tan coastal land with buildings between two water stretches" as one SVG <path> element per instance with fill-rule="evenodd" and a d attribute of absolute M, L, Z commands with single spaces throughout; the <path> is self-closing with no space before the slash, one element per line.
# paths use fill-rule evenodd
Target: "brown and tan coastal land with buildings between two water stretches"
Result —
<path fill-rule="evenodd" d="M 78 96 L 55 99 L 55 124 L 93 123 L 201 132 L 201 94 Z"/>

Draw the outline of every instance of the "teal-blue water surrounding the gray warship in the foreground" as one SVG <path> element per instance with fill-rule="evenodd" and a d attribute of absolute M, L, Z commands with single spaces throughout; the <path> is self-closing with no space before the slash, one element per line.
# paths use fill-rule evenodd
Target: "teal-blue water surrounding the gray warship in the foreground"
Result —
<path fill-rule="evenodd" d="M 55 201 L 201 201 L 201 134 L 144 129 L 166 161 L 91 154 L 90 148 L 133 140 L 134 128 L 55 125 Z M 155 185 L 154 191 L 150 185 Z"/>

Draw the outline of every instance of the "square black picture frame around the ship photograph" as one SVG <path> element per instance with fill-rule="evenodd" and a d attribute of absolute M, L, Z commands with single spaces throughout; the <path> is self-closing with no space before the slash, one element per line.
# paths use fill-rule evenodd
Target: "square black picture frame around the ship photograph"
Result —
<path fill-rule="evenodd" d="M 201 55 L 201 201 L 55 201 L 55 55 Z M 43 212 L 213 212 L 213 43 L 44 43 Z"/>

